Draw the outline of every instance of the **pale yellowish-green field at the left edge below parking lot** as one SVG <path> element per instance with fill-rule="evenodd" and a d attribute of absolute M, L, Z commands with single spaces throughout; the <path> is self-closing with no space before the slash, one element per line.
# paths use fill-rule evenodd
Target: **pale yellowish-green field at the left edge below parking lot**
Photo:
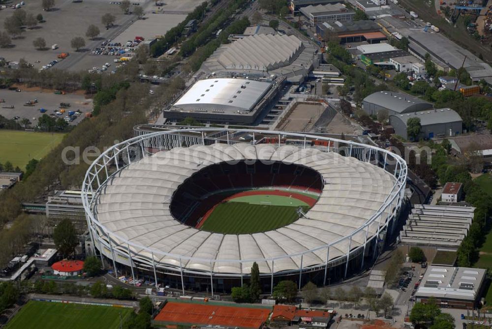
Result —
<path fill-rule="evenodd" d="M 12 162 L 22 170 L 31 159 L 41 159 L 55 148 L 64 134 L 0 129 L 0 163 Z"/>

